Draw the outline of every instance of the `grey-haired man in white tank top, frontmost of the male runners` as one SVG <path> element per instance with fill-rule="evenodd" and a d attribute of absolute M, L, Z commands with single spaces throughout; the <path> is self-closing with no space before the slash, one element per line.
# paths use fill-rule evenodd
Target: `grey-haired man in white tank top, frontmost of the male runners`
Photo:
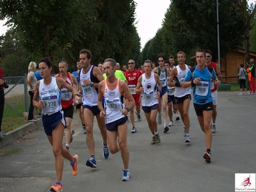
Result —
<path fill-rule="evenodd" d="M 107 79 L 99 84 L 98 106 L 100 117 L 105 118 L 109 150 L 115 154 L 121 150 L 124 164 L 123 181 L 130 180 L 129 150 L 127 149 L 127 115 L 134 107 L 134 99 L 127 84 L 115 77 L 116 61 L 109 58 L 104 61 L 104 70 Z M 129 104 L 124 106 L 124 94 Z M 102 106 L 102 97 L 105 98 L 105 109 Z M 118 143 L 116 143 L 118 137 Z"/>

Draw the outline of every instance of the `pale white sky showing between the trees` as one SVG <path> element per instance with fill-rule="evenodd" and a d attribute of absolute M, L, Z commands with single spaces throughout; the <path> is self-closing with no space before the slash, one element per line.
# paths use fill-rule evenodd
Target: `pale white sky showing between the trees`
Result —
<path fill-rule="evenodd" d="M 156 35 L 157 29 L 161 28 L 164 13 L 169 7 L 170 0 L 135 0 L 136 8 L 136 24 L 138 34 L 141 38 L 141 48 L 148 40 Z M 0 20 L 0 36 L 4 35 L 8 29 L 3 26 L 4 21 Z"/>

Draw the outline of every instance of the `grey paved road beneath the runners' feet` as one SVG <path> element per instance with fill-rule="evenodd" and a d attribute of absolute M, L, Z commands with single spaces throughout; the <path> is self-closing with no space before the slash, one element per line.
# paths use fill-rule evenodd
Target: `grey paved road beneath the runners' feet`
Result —
<path fill-rule="evenodd" d="M 85 136 L 77 113 L 72 122 L 76 130 L 70 152 L 79 156 L 79 173 L 72 176 L 64 161 L 65 191 L 235 191 L 235 173 L 256 172 L 255 106 L 256 95 L 219 92 L 217 133 L 213 135 L 212 162 L 205 163 L 204 134 L 200 131 L 191 102 L 191 143 L 184 143 L 182 122 L 175 122 L 167 134 L 159 125 L 161 143 L 150 145 L 147 121 L 136 122 L 131 134 L 129 122 L 131 180 L 122 182 L 120 153 L 102 157 L 102 138 L 94 123 L 97 168 L 85 165 L 89 158 Z M 56 179 L 54 157 L 42 127 L 1 148 L 21 148 L 20 154 L 0 157 L 0 191 L 49 191 Z M 31 141 L 31 142 L 29 142 Z M 41 152 L 38 152 L 40 150 Z M 252 181 L 251 181 L 252 182 Z M 255 183 L 255 181 L 253 181 Z"/>

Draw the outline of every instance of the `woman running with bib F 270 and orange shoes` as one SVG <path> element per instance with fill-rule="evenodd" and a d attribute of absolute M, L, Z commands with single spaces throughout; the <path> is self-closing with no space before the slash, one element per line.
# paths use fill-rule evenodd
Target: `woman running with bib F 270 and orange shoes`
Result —
<path fill-rule="evenodd" d="M 67 84 L 63 79 L 51 76 L 53 65 L 49 58 L 40 60 L 38 67 L 43 79 L 36 82 L 33 105 L 42 108 L 44 131 L 52 145 L 52 152 L 55 158 L 57 180 L 55 185 L 51 187 L 51 191 L 63 191 L 61 184 L 63 157 L 70 161 L 72 174 L 76 176 L 78 173 L 78 156 L 72 157 L 68 150 L 62 147 L 63 132 L 67 125 L 61 108 L 61 88 L 66 88 L 71 92 L 75 96 L 77 103 L 81 103 L 82 100 L 75 88 Z"/>

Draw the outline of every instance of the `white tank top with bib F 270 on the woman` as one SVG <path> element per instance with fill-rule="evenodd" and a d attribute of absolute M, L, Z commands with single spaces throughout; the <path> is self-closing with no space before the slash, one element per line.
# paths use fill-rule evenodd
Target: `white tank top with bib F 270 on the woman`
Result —
<path fill-rule="evenodd" d="M 40 80 L 39 98 L 40 100 L 44 100 L 42 115 L 52 115 L 62 109 L 61 91 L 55 77 L 52 77 L 51 84 L 49 85 L 44 84 L 44 79 Z"/>

